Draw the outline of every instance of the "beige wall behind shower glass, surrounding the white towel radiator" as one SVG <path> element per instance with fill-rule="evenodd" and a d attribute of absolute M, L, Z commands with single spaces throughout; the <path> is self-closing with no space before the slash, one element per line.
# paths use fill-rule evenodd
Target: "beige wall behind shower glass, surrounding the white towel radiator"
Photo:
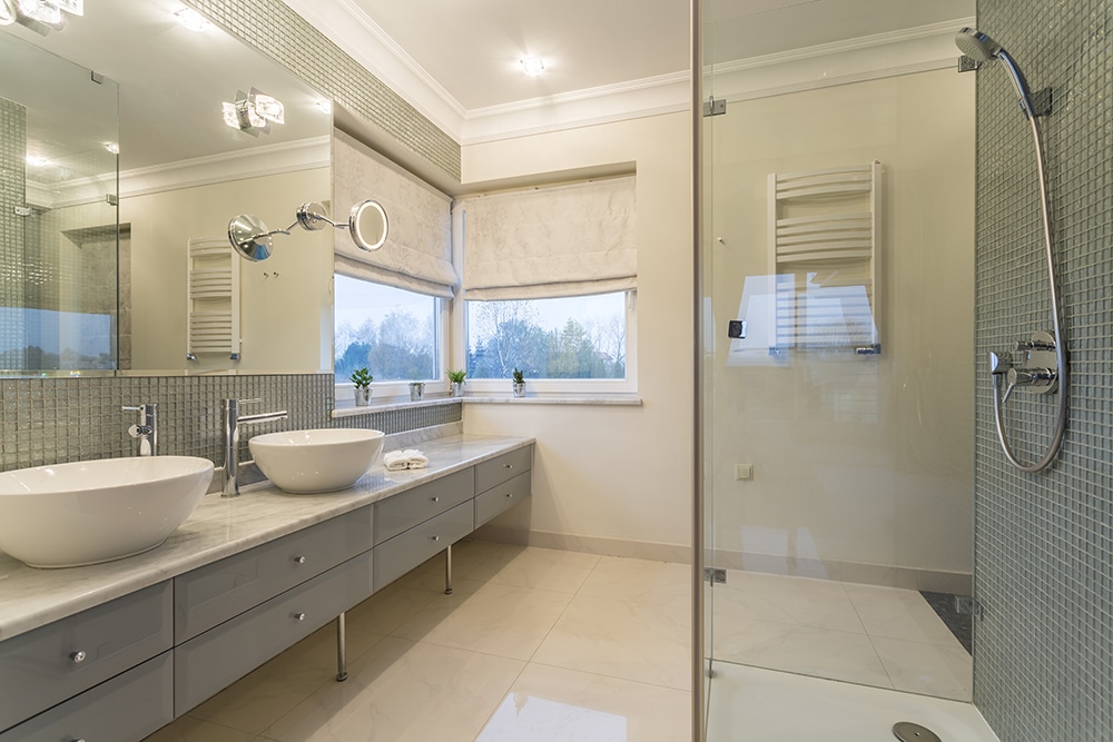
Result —
<path fill-rule="evenodd" d="M 889 580 L 854 565 L 971 572 L 972 78 L 847 85 L 731 103 L 713 119 L 713 540 L 778 557 L 748 565 L 815 560 L 801 572 L 869 582 Z M 885 179 L 881 355 L 728 365 L 726 320 L 745 278 L 769 273 L 768 174 L 874 159 Z M 755 478 L 736 481 L 736 464 L 752 464 Z"/>

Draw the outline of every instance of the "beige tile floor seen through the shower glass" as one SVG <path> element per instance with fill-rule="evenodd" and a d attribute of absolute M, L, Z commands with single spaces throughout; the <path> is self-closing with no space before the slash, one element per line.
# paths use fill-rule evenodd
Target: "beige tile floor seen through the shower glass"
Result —
<path fill-rule="evenodd" d="M 969 701 L 971 655 L 916 591 L 727 571 L 712 656 Z"/>

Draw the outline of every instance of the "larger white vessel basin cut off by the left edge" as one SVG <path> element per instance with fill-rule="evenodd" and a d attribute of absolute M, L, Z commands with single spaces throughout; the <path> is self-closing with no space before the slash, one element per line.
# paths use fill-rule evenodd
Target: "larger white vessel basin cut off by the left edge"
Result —
<path fill-rule="evenodd" d="M 72 567 L 155 548 L 197 507 L 213 462 L 102 458 L 0 473 L 0 551 Z"/>

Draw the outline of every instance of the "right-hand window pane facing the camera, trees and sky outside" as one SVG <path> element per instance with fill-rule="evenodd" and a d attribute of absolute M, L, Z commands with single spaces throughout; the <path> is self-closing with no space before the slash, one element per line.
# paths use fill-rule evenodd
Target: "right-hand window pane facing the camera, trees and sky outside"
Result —
<path fill-rule="evenodd" d="M 632 304 L 632 291 L 467 301 L 467 376 L 624 380 Z"/>

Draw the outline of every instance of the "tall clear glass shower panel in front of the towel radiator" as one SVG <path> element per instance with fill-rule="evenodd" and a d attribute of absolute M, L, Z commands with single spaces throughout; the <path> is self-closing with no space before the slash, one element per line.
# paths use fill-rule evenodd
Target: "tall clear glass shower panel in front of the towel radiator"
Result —
<path fill-rule="evenodd" d="M 708 740 L 778 679 L 972 694 L 973 3 L 845 4 L 693 9 Z"/>

